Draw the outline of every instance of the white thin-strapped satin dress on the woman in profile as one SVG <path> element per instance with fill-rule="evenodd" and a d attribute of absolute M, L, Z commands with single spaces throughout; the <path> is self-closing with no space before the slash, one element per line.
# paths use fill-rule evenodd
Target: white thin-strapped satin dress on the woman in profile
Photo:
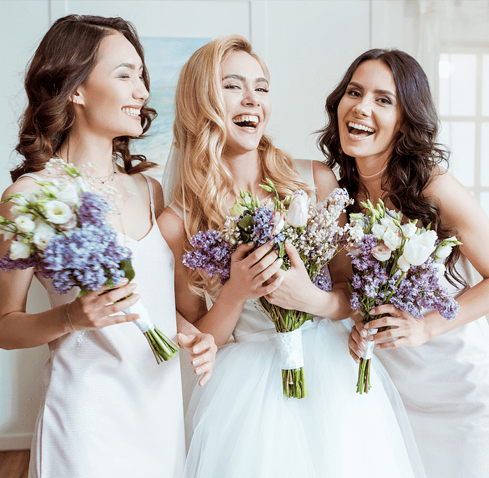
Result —
<path fill-rule="evenodd" d="M 154 324 L 174 339 L 175 263 L 156 224 L 146 180 L 152 229 L 141 240 L 122 233 L 119 239 L 133 253 L 140 300 Z M 49 280 L 38 278 L 52 307 L 78 295 L 78 288 L 59 294 Z M 48 344 L 29 478 L 180 478 L 185 442 L 178 354 L 158 365 L 130 322 L 85 331 L 78 348 L 75 335 Z"/>

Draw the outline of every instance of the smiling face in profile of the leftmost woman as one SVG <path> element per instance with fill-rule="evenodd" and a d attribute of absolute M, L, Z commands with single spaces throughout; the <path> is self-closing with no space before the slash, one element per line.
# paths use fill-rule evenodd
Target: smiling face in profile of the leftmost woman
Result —
<path fill-rule="evenodd" d="M 73 95 L 78 125 L 110 140 L 140 136 L 140 110 L 149 96 L 142 75 L 131 42 L 119 32 L 105 36 L 92 73 Z"/>

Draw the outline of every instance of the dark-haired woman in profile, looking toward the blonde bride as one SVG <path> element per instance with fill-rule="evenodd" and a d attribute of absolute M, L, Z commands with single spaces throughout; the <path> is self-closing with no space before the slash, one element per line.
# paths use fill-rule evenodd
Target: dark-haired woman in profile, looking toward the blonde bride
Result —
<path fill-rule="evenodd" d="M 180 361 L 175 356 L 158 365 L 131 324 L 137 314 L 122 310 L 143 297 L 158 328 L 174 338 L 178 324 L 187 334 L 179 334 L 180 344 L 205 374 L 201 385 L 216 347 L 210 335 L 175 314 L 173 255 L 156 226 L 161 186 L 140 174 L 153 164 L 129 151 L 155 116 L 146 105 L 149 77 L 136 30 L 121 18 L 60 18 L 36 50 L 25 87 L 29 103 L 17 145 L 24 161 L 12 171 L 15 182 L 3 197 L 52 180 L 53 167 L 46 165 L 53 157 L 73 164 L 92 191 L 111 191 L 117 213 L 110 222 L 118 242 L 131 249 L 138 283 L 136 289 L 125 280 L 78 297 L 78 288 L 61 295 L 51 280 L 38 277 L 52 309 L 27 314 L 34 270 L 0 274 L 0 347 L 50 348 L 29 477 L 180 477 Z M 12 217 L 9 208 L 0 205 L 0 215 Z M 8 246 L 0 242 L 1 255 Z"/>

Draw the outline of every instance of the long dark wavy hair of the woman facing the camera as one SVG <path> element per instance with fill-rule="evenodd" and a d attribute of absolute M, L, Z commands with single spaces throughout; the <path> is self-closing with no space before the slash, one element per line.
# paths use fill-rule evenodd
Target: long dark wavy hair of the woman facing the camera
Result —
<path fill-rule="evenodd" d="M 382 61 L 390 68 L 402 110 L 403 131 L 395 138 L 393 154 L 382 178 L 381 187 L 386 191 L 384 200 L 391 201 L 404 216 L 421 219 L 423 226 L 431 224 L 439 238 L 453 236 L 456 231 L 441 224 L 435 201 L 423 195 L 425 187 L 432 180 L 435 166 L 448 162 L 448 148 L 435 142 L 439 120 L 428 78 L 418 61 L 400 50 L 374 48 L 363 53 L 353 61 L 340 84 L 326 99 L 329 122 L 318 131 L 320 136 L 317 144 L 326 157 L 326 164 L 330 168 L 339 166 L 340 186 L 346 188 L 355 199 L 349 212 L 360 211 L 357 198 L 360 193 L 367 195 L 367 190 L 360 181 L 355 159 L 342 150 L 337 111 L 353 73 L 358 65 L 367 60 Z M 455 280 L 465 285 L 465 281 L 455 270 L 459 256 L 459 247 L 454 247 L 445 261 L 446 279 L 451 284 L 455 284 Z"/>

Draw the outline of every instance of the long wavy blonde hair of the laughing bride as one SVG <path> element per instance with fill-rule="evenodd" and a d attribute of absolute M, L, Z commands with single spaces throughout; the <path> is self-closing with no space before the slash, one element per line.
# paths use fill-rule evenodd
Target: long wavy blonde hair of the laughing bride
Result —
<path fill-rule="evenodd" d="M 226 143 L 226 108 L 221 87 L 221 67 L 233 52 L 245 51 L 263 69 L 268 68 L 251 50 L 246 38 L 238 35 L 217 38 L 191 56 L 180 72 L 175 93 L 173 136 L 180 151 L 180 185 L 175 203 L 183 211 L 187 238 L 184 250 L 191 249 L 189 239 L 198 231 L 220 229 L 229 214 L 226 196 L 233 189 L 233 175 L 221 159 Z M 310 194 L 300 178 L 293 159 L 263 136 L 258 145 L 263 180 L 270 178 L 284 198 L 297 189 Z M 216 281 L 205 272 L 191 271 L 189 287 L 194 293 L 215 290 Z"/>

